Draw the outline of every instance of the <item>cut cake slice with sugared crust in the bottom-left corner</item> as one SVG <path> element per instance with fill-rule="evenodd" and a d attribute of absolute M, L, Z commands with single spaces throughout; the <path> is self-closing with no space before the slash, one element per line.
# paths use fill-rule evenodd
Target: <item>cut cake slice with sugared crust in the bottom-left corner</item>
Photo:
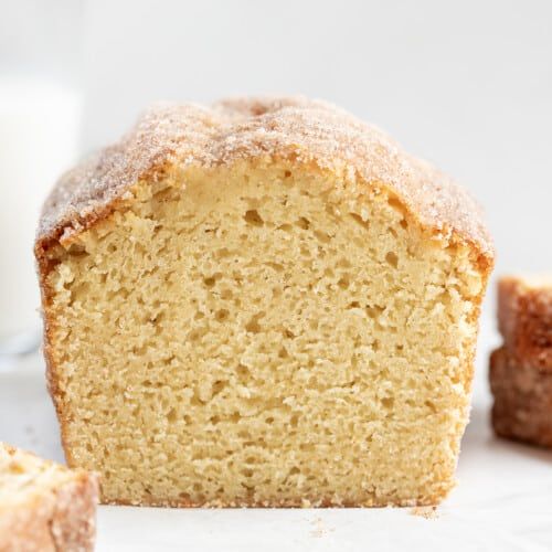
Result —
<path fill-rule="evenodd" d="M 96 476 L 0 443 L 0 552 L 94 549 Z"/>

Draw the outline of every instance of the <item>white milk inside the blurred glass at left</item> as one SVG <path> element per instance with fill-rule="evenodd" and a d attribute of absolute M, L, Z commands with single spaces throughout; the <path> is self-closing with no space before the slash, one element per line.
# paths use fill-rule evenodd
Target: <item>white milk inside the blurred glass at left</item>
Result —
<path fill-rule="evenodd" d="M 33 240 L 42 202 L 77 157 L 81 115 L 75 91 L 0 77 L 0 347 L 40 325 Z"/>

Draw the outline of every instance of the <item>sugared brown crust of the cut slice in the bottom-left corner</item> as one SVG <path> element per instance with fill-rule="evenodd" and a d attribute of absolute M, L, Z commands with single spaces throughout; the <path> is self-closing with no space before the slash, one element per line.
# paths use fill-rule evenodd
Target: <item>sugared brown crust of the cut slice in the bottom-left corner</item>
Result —
<path fill-rule="evenodd" d="M 32 501 L 0 507 L 0 552 L 94 550 L 97 502 L 97 477 L 77 470 L 68 481 L 40 490 Z"/>

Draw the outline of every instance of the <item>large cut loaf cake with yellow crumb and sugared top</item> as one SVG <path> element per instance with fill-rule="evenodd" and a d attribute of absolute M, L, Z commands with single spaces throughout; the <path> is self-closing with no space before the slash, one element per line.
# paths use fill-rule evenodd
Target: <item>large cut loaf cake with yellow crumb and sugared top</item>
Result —
<path fill-rule="evenodd" d="M 52 396 L 105 502 L 431 505 L 454 485 L 492 245 L 322 102 L 155 106 L 35 244 Z"/>

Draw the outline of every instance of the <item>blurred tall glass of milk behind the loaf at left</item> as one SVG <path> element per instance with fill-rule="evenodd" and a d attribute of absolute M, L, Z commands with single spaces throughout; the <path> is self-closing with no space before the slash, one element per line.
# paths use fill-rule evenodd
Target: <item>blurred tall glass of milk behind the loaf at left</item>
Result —
<path fill-rule="evenodd" d="M 0 20 L 0 369 L 40 344 L 33 241 L 79 155 L 81 2 L 19 0 Z"/>

